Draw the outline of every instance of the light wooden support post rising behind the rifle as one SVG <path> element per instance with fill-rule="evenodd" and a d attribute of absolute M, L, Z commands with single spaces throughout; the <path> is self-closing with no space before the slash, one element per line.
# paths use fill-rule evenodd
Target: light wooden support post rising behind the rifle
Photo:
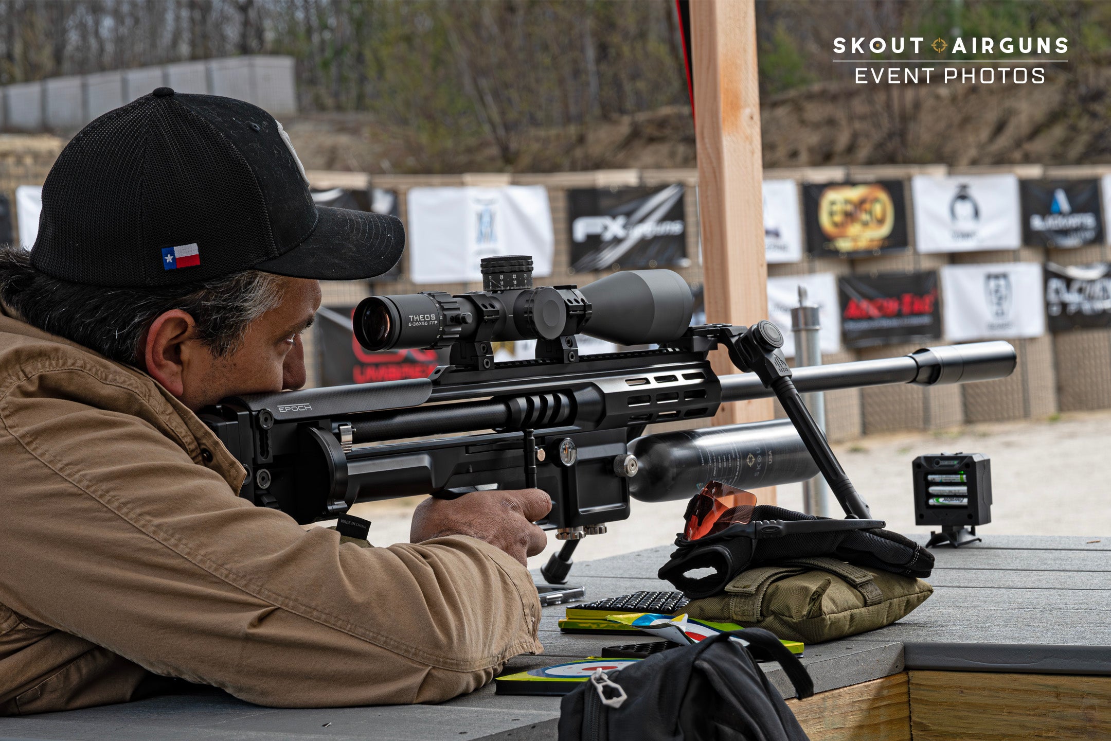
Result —
<path fill-rule="evenodd" d="M 707 321 L 768 318 L 753 0 L 693 0 L 691 67 Z M 735 373 L 724 351 L 718 374 Z M 770 399 L 723 404 L 714 424 L 774 417 Z"/>

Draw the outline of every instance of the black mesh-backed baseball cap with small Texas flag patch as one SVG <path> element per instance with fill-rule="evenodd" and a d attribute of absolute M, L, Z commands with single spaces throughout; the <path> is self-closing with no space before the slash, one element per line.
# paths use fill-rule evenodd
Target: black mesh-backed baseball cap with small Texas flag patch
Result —
<path fill-rule="evenodd" d="M 318 207 L 289 137 L 257 106 L 158 88 L 82 129 L 42 186 L 34 267 L 104 287 L 261 270 L 380 276 L 401 257 L 390 216 Z"/>

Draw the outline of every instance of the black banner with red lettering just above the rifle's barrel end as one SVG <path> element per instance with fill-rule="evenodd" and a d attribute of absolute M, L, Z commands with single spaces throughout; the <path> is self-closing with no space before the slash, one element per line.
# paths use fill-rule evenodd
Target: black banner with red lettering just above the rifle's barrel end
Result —
<path fill-rule="evenodd" d="M 941 337 L 938 273 L 842 276 L 841 332 L 850 348 Z"/>

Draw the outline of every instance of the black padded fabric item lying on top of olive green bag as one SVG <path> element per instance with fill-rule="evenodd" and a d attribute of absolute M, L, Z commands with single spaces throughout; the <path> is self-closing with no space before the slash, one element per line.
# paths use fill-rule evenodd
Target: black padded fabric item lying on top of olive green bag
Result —
<path fill-rule="evenodd" d="M 698 540 L 677 538 L 677 550 L 659 575 L 692 600 L 720 593 L 747 569 L 815 555 L 904 577 L 930 575 L 933 554 L 897 532 L 879 528 L 827 530 L 854 522 L 760 504 L 752 508 L 752 519 L 745 524 L 733 524 Z M 687 575 L 695 569 L 713 569 L 714 573 L 697 579 Z"/>

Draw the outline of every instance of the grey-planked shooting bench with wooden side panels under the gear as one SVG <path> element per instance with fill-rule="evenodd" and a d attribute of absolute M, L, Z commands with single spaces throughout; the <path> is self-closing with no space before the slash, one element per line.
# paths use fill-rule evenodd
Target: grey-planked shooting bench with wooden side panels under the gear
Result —
<path fill-rule="evenodd" d="M 919 537 L 919 542 L 924 538 Z M 587 599 L 671 590 L 670 547 L 577 563 Z M 882 630 L 808 644 L 814 697 L 789 700 L 814 741 L 1111 738 L 1111 538 L 983 535 L 933 549 L 933 595 Z M 564 635 L 544 609 L 547 653 L 522 671 L 597 655 L 628 635 Z M 650 639 L 645 635 L 645 640 Z M 762 664 L 784 697 L 777 664 Z M 497 695 L 491 683 L 440 705 L 274 710 L 214 689 L 28 718 L 0 739 L 448 741 L 554 739 L 560 698 Z"/>

